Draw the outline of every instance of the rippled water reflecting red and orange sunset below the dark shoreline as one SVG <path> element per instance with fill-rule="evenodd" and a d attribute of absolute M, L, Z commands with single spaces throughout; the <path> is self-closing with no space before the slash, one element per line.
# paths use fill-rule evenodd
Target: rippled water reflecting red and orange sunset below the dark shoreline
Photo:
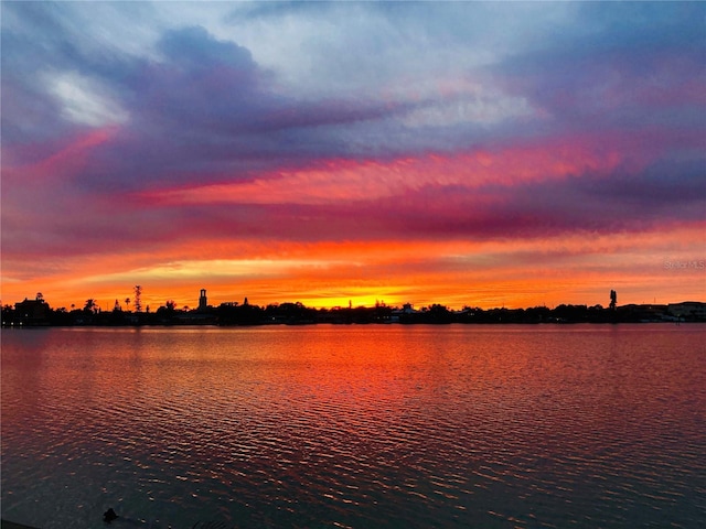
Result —
<path fill-rule="evenodd" d="M 706 325 L 2 333 L 2 517 L 706 527 Z"/>

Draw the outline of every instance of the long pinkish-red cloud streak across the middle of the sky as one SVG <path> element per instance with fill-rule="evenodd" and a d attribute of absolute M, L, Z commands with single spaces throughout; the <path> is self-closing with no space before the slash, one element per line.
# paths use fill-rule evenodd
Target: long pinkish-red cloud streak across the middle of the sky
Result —
<path fill-rule="evenodd" d="M 608 174 L 628 163 L 618 147 L 593 139 L 565 140 L 550 147 L 526 145 L 461 153 L 429 153 L 389 162 L 329 160 L 307 169 L 279 170 L 255 180 L 189 185 L 143 192 L 150 204 L 335 204 L 391 197 L 427 185 L 514 185 L 578 176 Z M 642 161 L 643 165 L 646 161 Z M 634 161 L 630 161 L 635 170 Z"/>

